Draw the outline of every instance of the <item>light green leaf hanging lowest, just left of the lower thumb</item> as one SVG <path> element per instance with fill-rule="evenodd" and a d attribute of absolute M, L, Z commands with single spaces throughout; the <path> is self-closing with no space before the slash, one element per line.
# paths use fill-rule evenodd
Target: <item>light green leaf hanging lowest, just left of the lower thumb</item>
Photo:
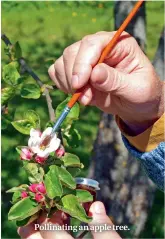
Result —
<path fill-rule="evenodd" d="M 91 222 L 92 218 L 86 215 L 84 208 L 74 195 L 69 194 L 64 196 L 56 206 L 59 210 L 68 213 L 70 216 L 75 217 L 82 222 Z"/>

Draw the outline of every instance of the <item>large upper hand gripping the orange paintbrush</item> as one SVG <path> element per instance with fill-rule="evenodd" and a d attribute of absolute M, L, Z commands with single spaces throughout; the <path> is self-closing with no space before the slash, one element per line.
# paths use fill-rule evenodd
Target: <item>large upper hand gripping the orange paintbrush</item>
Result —
<path fill-rule="evenodd" d="M 104 63 L 96 65 L 114 34 L 98 32 L 67 47 L 49 68 L 49 75 L 66 93 L 86 85 L 82 104 L 118 115 L 136 134 L 163 114 L 164 84 L 136 40 L 126 32 Z"/>

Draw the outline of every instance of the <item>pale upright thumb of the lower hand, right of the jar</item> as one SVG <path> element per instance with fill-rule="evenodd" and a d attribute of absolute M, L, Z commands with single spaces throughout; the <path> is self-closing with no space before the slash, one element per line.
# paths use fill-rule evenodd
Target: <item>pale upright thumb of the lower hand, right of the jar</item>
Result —
<path fill-rule="evenodd" d="M 106 215 L 105 207 L 102 202 L 94 202 L 89 211 L 93 217 L 93 220 L 89 225 L 94 239 L 121 239 L 116 231 L 105 229 L 105 225 L 112 227 L 113 223 Z"/>

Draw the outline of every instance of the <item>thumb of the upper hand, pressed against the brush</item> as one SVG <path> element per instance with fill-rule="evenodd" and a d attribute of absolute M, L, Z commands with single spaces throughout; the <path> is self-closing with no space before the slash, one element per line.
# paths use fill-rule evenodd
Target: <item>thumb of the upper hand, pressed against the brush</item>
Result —
<path fill-rule="evenodd" d="M 128 80 L 129 75 L 101 63 L 93 68 L 90 83 L 99 91 L 122 94 L 123 89 L 128 86 Z"/>

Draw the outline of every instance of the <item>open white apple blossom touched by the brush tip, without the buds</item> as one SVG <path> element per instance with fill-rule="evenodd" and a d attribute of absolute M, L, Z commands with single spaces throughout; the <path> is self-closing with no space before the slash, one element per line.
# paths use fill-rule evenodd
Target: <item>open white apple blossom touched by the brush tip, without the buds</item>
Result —
<path fill-rule="evenodd" d="M 48 142 L 44 142 L 47 137 L 52 133 L 52 127 L 48 127 L 41 135 L 38 130 L 30 130 L 30 138 L 28 141 L 28 146 L 30 150 L 37 154 L 41 158 L 47 158 L 50 153 L 55 152 L 59 146 L 61 140 L 57 138 L 57 134 L 54 133 Z"/>

